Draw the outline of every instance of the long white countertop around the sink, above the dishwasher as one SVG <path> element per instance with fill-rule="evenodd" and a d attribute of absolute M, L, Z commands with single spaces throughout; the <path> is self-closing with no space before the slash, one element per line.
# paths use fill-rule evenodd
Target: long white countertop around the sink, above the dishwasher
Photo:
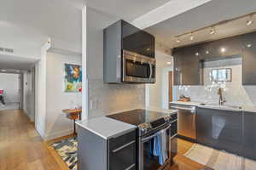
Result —
<path fill-rule="evenodd" d="M 183 101 L 174 101 L 170 102 L 170 104 L 176 104 L 176 105 L 193 105 L 200 108 L 207 108 L 207 109 L 217 109 L 217 110 L 225 110 L 225 111 L 248 111 L 248 112 L 255 112 L 256 113 L 256 107 L 255 106 L 247 106 L 243 105 L 241 106 L 241 109 L 238 107 L 230 107 L 229 105 L 201 105 L 199 102 L 183 102 Z"/>

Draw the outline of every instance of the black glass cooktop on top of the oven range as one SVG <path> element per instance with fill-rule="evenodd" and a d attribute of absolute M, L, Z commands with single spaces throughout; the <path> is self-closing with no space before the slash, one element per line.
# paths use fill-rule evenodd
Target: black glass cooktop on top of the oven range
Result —
<path fill-rule="evenodd" d="M 133 111 L 124 111 L 114 115 L 109 115 L 108 117 L 137 126 L 139 124 L 142 124 L 143 122 L 154 122 L 166 115 L 168 114 L 160 113 L 157 111 L 146 111 L 137 109 Z"/>

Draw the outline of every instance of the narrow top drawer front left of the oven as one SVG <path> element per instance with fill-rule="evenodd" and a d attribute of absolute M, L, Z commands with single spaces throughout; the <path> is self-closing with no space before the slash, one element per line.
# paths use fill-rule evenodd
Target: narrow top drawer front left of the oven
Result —
<path fill-rule="evenodd" d="M 131 133 L 125 133 L 117 138 L 109 139 L 109 150 L 116 150 L 117 148 L 132 141 L 136 142 L 136 135 L 136 130 L 134 130 Z"/>

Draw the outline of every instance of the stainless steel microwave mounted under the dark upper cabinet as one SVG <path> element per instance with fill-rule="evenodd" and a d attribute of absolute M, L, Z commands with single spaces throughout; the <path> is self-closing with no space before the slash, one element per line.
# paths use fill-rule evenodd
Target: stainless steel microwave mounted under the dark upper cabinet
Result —
<path fill-rule="evenodd" d="M 122 82 L 154 83 L 155 59 L 123 50 Z"/>

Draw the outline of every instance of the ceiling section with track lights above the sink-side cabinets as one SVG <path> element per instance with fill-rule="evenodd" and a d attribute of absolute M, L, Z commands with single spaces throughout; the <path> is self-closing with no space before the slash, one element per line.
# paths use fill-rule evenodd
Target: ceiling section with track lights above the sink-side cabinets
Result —
<path fill-rule="evenodd" d="M 230 9 L 230 10 L 227 10 Z M 246 26 L 247 18 L 233 21 L 229 24 L 216 27 L 216 34 L 210 35 L 209 29 L 194 33 L 194 40 L 190 41 L 190 35 L 180 37 L 176 42 L 176 36 L 184 32 L 195 31 L 205 26 L 211 26 L 223 20 L 230 20 L 238 16 L 256 11 L 255 0 L 213 0 L 197 8 L 193 8 L 183 14 L 150 26 L 146 31 L 152 33 L 159 42 L 163 42 L 170 48 L 188 45 L 196 42 L 205 42 L 222 37 L 230 37 L 244 32 L 256 30 L 256 16 L 253 24 Z"/>

